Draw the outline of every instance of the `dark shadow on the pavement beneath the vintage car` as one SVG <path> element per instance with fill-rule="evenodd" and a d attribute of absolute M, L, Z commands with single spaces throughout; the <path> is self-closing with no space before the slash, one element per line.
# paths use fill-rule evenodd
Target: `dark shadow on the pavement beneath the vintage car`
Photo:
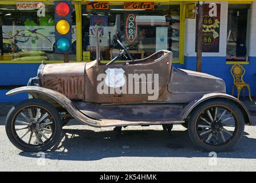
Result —
<path fill-rule="evenodd" d="M 219 158 L 256 157 L 256 139 L 245 133 L 231 151 L 217 153 Z M 21 152 L 24 157 L 38 158 L 37 153 Z M 192 144 L 187 130 L 123 130 L 119 139 L 112 131 L 65 129 L 57 147 L 45 152 L 50 160 L 94 161 L 109 157 L 210 157 Z"/>

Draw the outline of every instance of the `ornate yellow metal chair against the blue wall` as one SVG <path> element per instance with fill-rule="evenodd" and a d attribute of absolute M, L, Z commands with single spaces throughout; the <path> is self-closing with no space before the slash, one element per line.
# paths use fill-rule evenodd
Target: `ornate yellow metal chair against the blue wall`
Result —
<path fill-rule="evenodd" d="M 230 72 L 234 78 L 232 96 L 234 96 L 234 89 L 235 87 L 237 87 L 237 98 L 239 99 L 241 90 L 243 90 L 243 98 L 245 98 L 245 87 L 247 87 L 249 91 L 249 98 L 252 101 L 250 85 L 248 83 L 245 83 L 245 81 L 243 81 L 243 75 L 245 75 L 245 69 L 243 68 L 243 66 L 239 64 L 235 64 L 231 67 Z"/>

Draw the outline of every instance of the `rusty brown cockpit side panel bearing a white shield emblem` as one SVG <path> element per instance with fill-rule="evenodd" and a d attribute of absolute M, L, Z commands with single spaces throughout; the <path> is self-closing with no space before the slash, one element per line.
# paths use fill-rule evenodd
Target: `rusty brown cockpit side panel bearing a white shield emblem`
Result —
<path fill-rule="evenodd" d="M 170 98 L 167 90 L 171 57 L 136 64 L 86 63 L 85 101 L 97 103 L 155 102 Z"/>

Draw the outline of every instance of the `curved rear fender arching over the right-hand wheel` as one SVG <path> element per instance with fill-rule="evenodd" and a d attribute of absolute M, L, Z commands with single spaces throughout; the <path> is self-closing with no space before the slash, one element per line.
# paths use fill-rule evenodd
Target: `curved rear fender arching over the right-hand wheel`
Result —
<path fill-rule="evenodd" d="M 251 115 L 249 111 L 247 110 L 246 106 L 239 101 L 237 98 L 230 96 L 229 94 L 226 93 L 209 93 L 209 94 L 204 94 L 202 97 L 197 98 L 196 100 L 190 102 L 180 113 L 179 119 L 180 120 L 185 120 L 188 118 L 190 113 L 192 112 L 193 109 L 196 108 L 199 104 L 201 104 L 204 101 L 211 100 L 212 98 L 222 98 L 223 100 L 230 100 L 234 102 L 235 104 L 238 105 L 238 107 L 242 110 L 243 116 L 245 117 L 245 123 L 251 125 Z"/>

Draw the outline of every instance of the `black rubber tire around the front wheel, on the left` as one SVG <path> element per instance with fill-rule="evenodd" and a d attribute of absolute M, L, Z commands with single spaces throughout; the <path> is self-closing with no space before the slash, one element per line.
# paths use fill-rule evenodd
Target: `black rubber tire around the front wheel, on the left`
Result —
<path fill-rule="evenodd" d="M 17 116 L 21 114 L 19 112 L 22 112 L 22 110 L 29 108 L 30 106 L 32 109 L 35 106 L 36 108 L 38 107 L 38 108 L 44 109 L 47 113 L 49 113 L 49 116 L 51 116 L 52 117 L 51 119 L 54 121 L 53 131 L 51 136 L 49 137 L 48 140 L 46 140 L 46 142 L 42 142 L 42 144 L 40 142 L 36 145 L 33 145 L 33 144 L 30 144 L 30 142 L 29 143 L 24 142 L 21 138 L 19 138 L 17 131 L 15 129 L 15 120 Z M 13 108 L 10 109 L 5 121 L 5 130 L 6 130 L 7 137 L 9 138 L 11 143 L 18 149 L 21 149 L 25 152 L 44 152 L 52 148 L 52 146 L 54 146 L 56 142 L 60 140 L 61 133 L 62 133 L 62 122 L 61 122 L 60 115 L 58 114 L 58 111 L 48 102 L 38 100 L 38 99 L 29 99 L 29 100 L 20 102 L 19 104 L 13 106 Z M 36 134 L 36 132 L 34 133 Z M 32 135 L 33 133 L 31 133 L 31 136 Z"/>

